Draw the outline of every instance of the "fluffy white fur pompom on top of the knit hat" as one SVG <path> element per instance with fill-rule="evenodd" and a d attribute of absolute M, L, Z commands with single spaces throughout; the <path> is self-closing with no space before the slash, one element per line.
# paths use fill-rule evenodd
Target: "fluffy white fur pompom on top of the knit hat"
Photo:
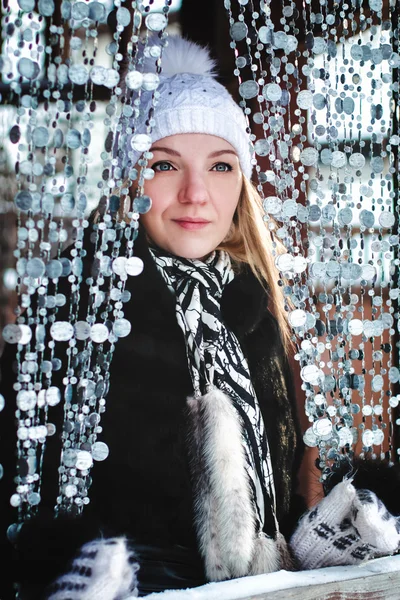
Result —
<path fill-rule="evenodd" d="M 156 40 L 159 39 L 158 37 Z M 155 43 L 157 43 L 157 41 Z M 153 42 L 153 41 L 152 41 Z M 175 35 L 168 37 L 161 59 L 161 75 L 173 77 L 180 73 L 193 75 L 215 75 L 216 61 L 207 48 Z M 154 59 L 153 69 L 154 70 Z"/>

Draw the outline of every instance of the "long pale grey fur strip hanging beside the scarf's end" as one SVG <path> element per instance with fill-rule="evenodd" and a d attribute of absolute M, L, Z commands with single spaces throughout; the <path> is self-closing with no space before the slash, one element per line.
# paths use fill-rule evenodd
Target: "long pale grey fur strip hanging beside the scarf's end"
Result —
<path fill-rule="evenodd" d="M 195 506 L 195 522 L 206 575 L 210 581 L 243 577 L 254 552 L 255 523 L 241 424 L 230 398 L 218 389 L 189 399 L 189 406 L 192 416 L 198 411 L 203 430 L 203 491 Z"/>

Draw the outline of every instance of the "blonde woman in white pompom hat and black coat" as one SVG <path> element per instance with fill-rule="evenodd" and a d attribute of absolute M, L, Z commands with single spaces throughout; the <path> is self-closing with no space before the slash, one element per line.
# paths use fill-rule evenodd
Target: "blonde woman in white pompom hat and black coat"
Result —
<path fill-rule="evenodd" d="M 38 516 L 21 528 L 2 576 L 4 586 L 19 582 L 21 599 L 122 599 L 293 565 L 285 538 L 305 504 L 296 495 L 302 448 L 288 327 L 261 200 L 249 182 L 247 125 L 211 67 L 204 49 L 170 39 L 151 134 L 154 178 L 145 184 L 153 204 L 134 246 L 144 271 L 127 281 L 125 318 L 132 330 L 116 344 L 101 419 L 110 456 L 93 469 L 83 516 L 54 520 L 60 441 L 48 439 Z M 130 146 L 119 151 L 125 168 L 138 159 Z M 85 281 L 94 260 L 89 235 L 84 247 Z M 83 286 L 82 313 L 90 301 Z M 66 307 L 58 318 L 67 315 Z M 0 438 L 7 556 L 4 532 L 15 520 L 7 506 L 15 392 L 4 373 L 12 362 L 8 348 Z M 61 409 L 58 419 L 60 431 Z M 350 482 L 334 492 L 296 529 L 300 567 L 340 564 L 342 521 L 356 501 L 365 512 Z M 380 552 L 398 545 L 389 517 L 394 547 L 381 545 Z M 326 522 L 328 540 L 320 535 Z M 363 557 L 377 554 L 353 533 L 354 525 L 353 519 L 346 547 L 363 546 Z M 307 563 L 310 546 L 313 562 Z M 363 557 L 348 553 L 346 562 Z M 2 598 L 12 597 L 10 588 Z"/>

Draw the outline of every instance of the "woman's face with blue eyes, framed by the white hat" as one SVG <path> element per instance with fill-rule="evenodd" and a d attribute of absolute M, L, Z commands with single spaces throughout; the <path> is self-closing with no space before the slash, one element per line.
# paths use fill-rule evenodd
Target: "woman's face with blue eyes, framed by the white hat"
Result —
<path fill-rule="evenodd" d="M 172 135 L 151 148 L 155 175 L 145 183 L 153 201 L 142 215 L 151 240 L 183 258 L 206 258 L 226 237 L 242 188 L 234 148 L 202 133 Z"/>

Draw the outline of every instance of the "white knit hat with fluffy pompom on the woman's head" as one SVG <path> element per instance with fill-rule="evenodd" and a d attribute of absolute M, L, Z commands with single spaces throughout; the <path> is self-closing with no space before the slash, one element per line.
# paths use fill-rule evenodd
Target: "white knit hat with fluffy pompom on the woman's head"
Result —
<path fill-rule="evenodd" d="M 153 59 L 153 72 L 154 63 Z M 252 146 L 246 117 L 227 89 L 214 78 L 214 64 L 206 48 L 180 36 L 168 38 L 161 60 L 162 74 L 157 88 L 160 96 L 154 109 L 151 141 L 181 133 L 215 135 L 233 146 L 244 175 L 250 179 Z M 145 63 L 145 69 L 146 66 Z M 119 156 L 124 163 L 121 166 L 125 168 L 140 158 L 141 153 L 131 149 L 132 138 L 146 131 L 150 105 L 151 94 L 142 92 L 141 116 L 133 134 L 126 136 L 126 143 L 122 144 L 124 156 L 119 145 Z"/>

